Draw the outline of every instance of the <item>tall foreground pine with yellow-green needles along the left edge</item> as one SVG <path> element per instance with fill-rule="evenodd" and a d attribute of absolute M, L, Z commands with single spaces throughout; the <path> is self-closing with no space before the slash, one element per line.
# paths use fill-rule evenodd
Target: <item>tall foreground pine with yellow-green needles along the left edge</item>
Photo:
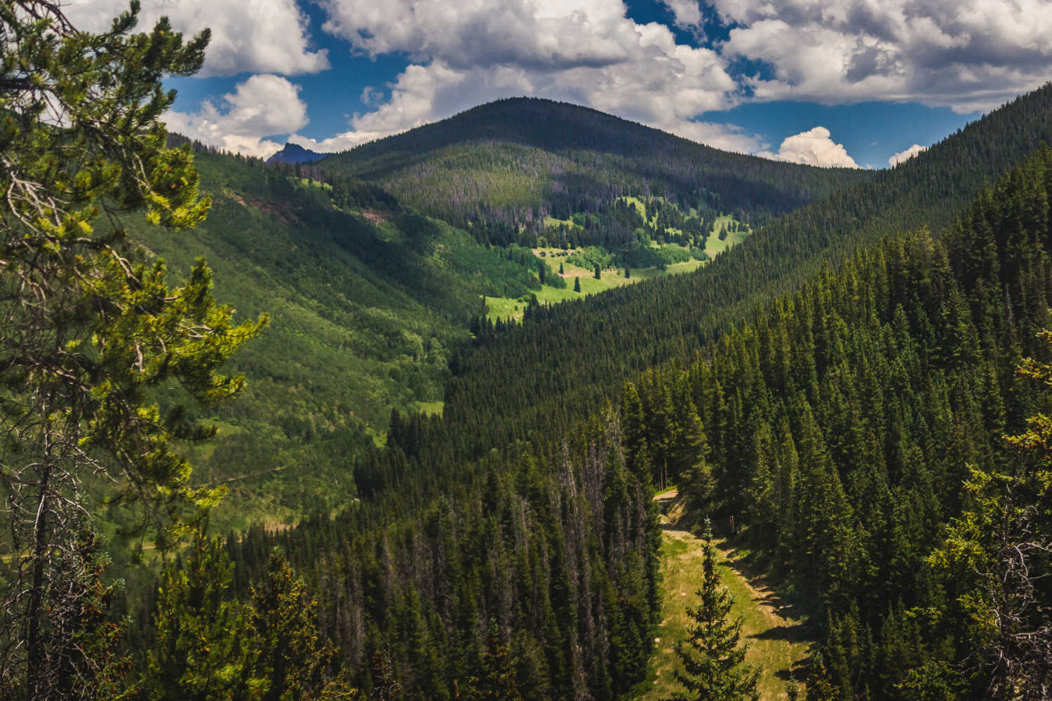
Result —
<path fill-rule="evenodd" d="M 161 79 L 200 68 L 208 33 L 183 43 L 161 19 L 133 34 L 139 3 L 101 34 L 81 32 L 60 3 L 0 3 L 0 454 L 7 508 L 0 559 L 0 671 L 29 700 L 64 698 L 69 665 L 92 660 L 52 632 L 79 620 L 95 577 L 99 497 L 158 545 L 210 508 L 180 441 L 208 437 L 177 401 L 235 394 L 218 373 L 264 319 L 238 326 L 211 296 L 203 261 L 171 288 L 163 262 L 142 262 L 120 221 L 144 211 L 171 229 L 200 222 L 189 146 L 165 147 Z M 55 115 L 61 123 L 55 123 Z M 171 395 L 174 396 L 174 395 Z M 99 488 L 88 490 L 86 483 Z M 25 671 L 24 683 L 12 671 Z M 61 672 L 66 669 L 67 672 Z M 89 685 L 89 684 L 88 684 Z"/>

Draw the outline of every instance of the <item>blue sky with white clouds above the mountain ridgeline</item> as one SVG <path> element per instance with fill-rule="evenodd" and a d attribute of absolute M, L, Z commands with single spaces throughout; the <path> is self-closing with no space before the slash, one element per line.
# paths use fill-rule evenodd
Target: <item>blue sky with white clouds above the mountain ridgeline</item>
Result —
<path fill-rule="evenodd" d="M 126 0 L 66 0 L 103 29 Z M 204 66 L 169 130 L 266 158 L 492 100 L 563 100 L 717 148 L 885 168 L 1052 78 L 1050 0 L 143 0 Z"/>

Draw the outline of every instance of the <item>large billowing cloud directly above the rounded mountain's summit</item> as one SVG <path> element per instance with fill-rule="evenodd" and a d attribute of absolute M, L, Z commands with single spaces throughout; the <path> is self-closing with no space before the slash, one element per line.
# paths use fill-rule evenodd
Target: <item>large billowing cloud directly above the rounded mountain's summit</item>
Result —
<path fill-rule="evenodd" d="M 691 3 L 700 20 L 694 0 L 676 0 L 677 17 L 693 21 Z M 390 99 L 376 111 L 328 140 L 297 137 L 305 146 L 347 148 L 523 95 L 589 105 L 723 148 L 763 146 L 736 127 L 694 121 L 737 102 L 726 61 L 713 49 L 676 43 L 668 26 L 629 19 L 621 0 L 464 0 L 456 12 L 444 0 L 323 6 L 325 30 L 353 50 L 403 51 L 417 62 L 387 86 Z"/>

